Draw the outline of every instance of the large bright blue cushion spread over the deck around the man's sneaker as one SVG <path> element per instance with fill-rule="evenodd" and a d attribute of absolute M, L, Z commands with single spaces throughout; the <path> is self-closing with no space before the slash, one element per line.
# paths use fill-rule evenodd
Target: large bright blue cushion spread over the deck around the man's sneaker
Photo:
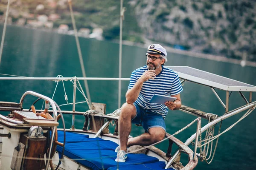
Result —
<path fill-rule="evenodd" d="M 63 142 L 63 131 L 58 130 L 58 141 Z M 103 169 L 114 169 L 117 167 L 116 152 L 115 149 L 118 146 L 115 142 L 103 140 L 101 138 L 89 138 L 88 135 L 83 135 L 79 133 L 66 132 L 66 146 L 64 155 L 74 161 L 89 167 L 92 170 L 103 170 Z M 63 148 L 57 146 L 56 151 L 61 155 Z M 151 164 L 156 163 L 156 164 Z M 157 167 L 155 170 L 162 170 L 165 167 L 164 162 L 159 162 L 159 160 L 152 156 L 147 156 L 145 154 L 135 154 L 128 153 L 128 158 L 125 162 L 119 162 L 119 169 L 125 168 L 127 166 L 132 166 L 131 168 L 144 170 L 143 164 L 149 164 L 149 167 Z M 141 166 L 142 165 L 142 166 Z M 133 166 L 139 166 L 133 167 Z M 121 168 L 121 169 L 122 169 Z M 130 169 L 130 168 L 128 168 Z M 116 169 L 115 169 L 116 170 Z M 146 170 L 146 169 L 145 169 Z"/>

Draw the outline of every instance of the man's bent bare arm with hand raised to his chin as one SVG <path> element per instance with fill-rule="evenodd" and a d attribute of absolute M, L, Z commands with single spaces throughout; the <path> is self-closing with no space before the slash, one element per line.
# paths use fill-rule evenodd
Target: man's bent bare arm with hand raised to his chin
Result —
<path fill-rule="evenodd" d="M 154 79 L 154 77 L 156 77 L 154 70 L 145 71 L 143 75 L 134 84 L 134 86 L 131 89 L 128 89 L 128 91 L 126 92 L 126 102 L 129 104 L 133 104 L 140 94 L 140 90 L 142 88 L 143 83 L 148 79 Z"/>

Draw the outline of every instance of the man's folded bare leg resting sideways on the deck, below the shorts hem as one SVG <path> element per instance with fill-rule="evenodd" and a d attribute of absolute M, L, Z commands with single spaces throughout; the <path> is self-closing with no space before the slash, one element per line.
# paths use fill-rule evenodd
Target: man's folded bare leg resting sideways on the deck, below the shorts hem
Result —
<path fill-rule="evenodd" d="M 163 140 L 165 137 L 165 130 L 161 127 L 152 127 L 148 130 L 148 133 L 143 133 L 140 136 L 129 138 L 127 146 L 142 145 L 148 146 Z M 121 141 L 121 140 L 120 140 Z"/>

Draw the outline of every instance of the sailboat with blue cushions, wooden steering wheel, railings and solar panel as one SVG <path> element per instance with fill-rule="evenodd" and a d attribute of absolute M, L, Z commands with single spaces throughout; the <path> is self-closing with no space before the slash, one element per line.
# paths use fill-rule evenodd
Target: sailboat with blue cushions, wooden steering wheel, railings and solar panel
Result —
<path fill-rule="evenodd" d="M 120 44 L 122 45 L 122 43 Z M 255 109 L 256 101 L 252 100 L 252 94 L 256 91 L 256 86 L 187 66 L 166 67 L 177 72 L 183 84 L 185 82 L 192 82 L 200 85 L 200 87 L 206 86 L 211 88 L 213 94 L 224 107 L 224 111 L 220 114 L 207 113 L 200 109 L 182 105 L 180 111 L 194 115 L 195 120 L 174 134 L 166 133 L 166 138 L 164 140 L 169 141 L 169 146 L 166 146 L 167 152 L 164 152 L 153 145 L 137 145 L 131 147 L 129 150 L 126 162 L 115 161 L 115 148 L 119 145 L 117 130 L 120 112 L 120 109 L 118 109 L 119 107 L 116 111 L 113 111 L 113 113 L 106 113 L 105 104 L 91 103 L 89 97 L 85 95 L 81 88 L 79 80 L 105 79 L 118 80 L 121 82 L 122 80 L 129 80 L 128 78 L 89 78 L 85 75 L 84 77 L 1 77 L 0 80 L 40 79 L 54 80 L 56 82 L 70 80 L 73 83 L 74 88 L 72 111 L 61 111 L 58 104 L 49 96 L 44 96 L 29 90 L 20 96 L 19 103 L 12 101 L 0 102 L 0 111 L 9 112 L 8 116 L 0 114 L 0 125 L 2 126 L 0 169 L 47 170 L 50 167 L 51 169 L 59 170 L 192 170 L 197 166 L 198 160 L 211 163 L 217 147 L 218 137 L 224 134 L 227 130 L 230 130 Z M 77 89 L 79 89 L 84 96 L 89 110 L 83 112 L 76 111 Z M 224 102 L 218 95 L 216 89 L 226 93 Z M 241 98 L 244 100 L 244 105 L 230 110 L 230 94 L 233 91 L 237 91 L 240 94 Z M 244 93 L 249 93 L 249 99 L 246 99 Z M 27 96 L 30 95 L 35 96 L 38 99 L 31 103 L 30 108 L 23 108 L 24 101 Z M 44 110 L 37 110 L 34 107 L 35 103 L 39 100 L 45 101 Z M 219 130 L 217 134 L 214 134 L 215 125 L 218 123 L 221 124 L 225 119 L 243 111 L 246 111 L 246 113 L 244 113 L 237 122 L 226 130 L 223 130 L 222 132 Z M 72 115 L 71 129 L 65 128 L 63 114 Z M 82 129 L 76 129 L 74 125 L 75 117 L 78 116 L 79 118 L 84 117 L 84 126 Z M 208 123 L 202 126 L 201 119 L 207 119 Z M 58 125 L 61 121 L 63 122 L 63 128 L 60 129 L 58 128 Z M 111 123 L 115 125 L 113 133 L 110 133 L 108 130 Z M 181 133 L 194 123 L 197 124 L 196 129 L 186 142 L 182 142 L 175 137 L 175 135 Z M 204 133 L 205 137 L 202 137 L 202 133 Z M 217 141 L 215 148 L 212 147 L 213 141 Z M 173 144 L 176 144 L 178 147 L 174 154 L 172 154 Z M 189 144 L 193 144 L 194 149 L 188 147 Z M 188 157 L 185 164 L 180 162 L 181 155 L 186 155 Z"/>

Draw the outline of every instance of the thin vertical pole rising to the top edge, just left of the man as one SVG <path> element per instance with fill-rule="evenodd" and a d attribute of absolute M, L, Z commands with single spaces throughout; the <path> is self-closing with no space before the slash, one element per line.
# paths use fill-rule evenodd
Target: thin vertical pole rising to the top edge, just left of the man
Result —
<path fill-rule="evenodd" d="M 122 77 L 122 14 L 123 1 L 120 0 L 120 36 L 119 36 L 119 78 Z M 121 80 L 118 80 L 118 108 L 121 107 Z"/>

